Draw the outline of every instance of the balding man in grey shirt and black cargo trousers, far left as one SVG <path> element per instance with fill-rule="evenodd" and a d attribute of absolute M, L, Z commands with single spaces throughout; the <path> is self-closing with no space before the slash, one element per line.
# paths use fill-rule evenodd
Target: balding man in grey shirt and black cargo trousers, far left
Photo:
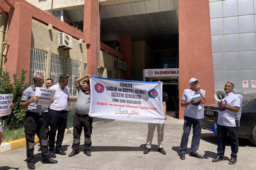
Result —
<path fill-rule="evenodd" d="M 27 167 L 29 169 L 34 169 L 34 138 L 37 134 L 39 138 L 39 143 L 42 148 L 43 164 L 55 164 L 55 161 L 49 158 L 46 130 L 45 130 L 45 120 L 42 114 L 43 107 L 41 105 L 34 105 L 35 101 L 38 101 L 39 97 L 35 96 L 36 87 L 42 87 L 44 84 L 44 77 L 40 74 L 35 75 L 33 78 L 34 83 L 23 91 L 23 95 L 20 102 L 20 108 L 27 108 L 27 113 L 24 119 L 25 127 L 25 138 L 27 143 Z M 53 99 L 52 99 L 53 102 Z"/>

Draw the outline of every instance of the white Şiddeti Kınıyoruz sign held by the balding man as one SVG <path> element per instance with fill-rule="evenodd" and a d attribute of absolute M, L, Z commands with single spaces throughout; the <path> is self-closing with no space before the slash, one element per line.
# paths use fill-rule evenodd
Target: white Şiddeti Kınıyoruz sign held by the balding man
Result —
<path fill-rule="evenodd" d="M 54 97 L 55 90 L 49 90 L 41 87 L 36 87 L 35 96 L 38 96 L 38 101 L 34 102 L 35 105 L 51 106 L 51 99 Z"/>

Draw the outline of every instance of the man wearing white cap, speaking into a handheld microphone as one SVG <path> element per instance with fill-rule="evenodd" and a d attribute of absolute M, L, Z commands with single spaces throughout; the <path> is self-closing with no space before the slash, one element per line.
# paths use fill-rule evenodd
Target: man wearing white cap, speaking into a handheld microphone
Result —
<path fill-rule="evenodd" d="M 205 103 L 205 90 L 202 90 L 199 82 L 196 78 L 191 78 L 189 80 L 190 89 L 185 89 L 182 95 L 181 106 L 185 107 L 184 111 L 184 125 L 183 134 L 180 143 L 180 159 L 185 159 L 185 153 L 187 151 L 188 137 L 190 134 L 191 127 L 193 125 L 193 137 L 190 148 L 190 156 L 196 158 L 203 158 L 202 155 L 197 153 L 199 148 L 202 119 L 204 118 L 204 106 Z M 190 98 L 194 95 L 199 94 L 201 96 L 198 102 L 191 100 Z"/>

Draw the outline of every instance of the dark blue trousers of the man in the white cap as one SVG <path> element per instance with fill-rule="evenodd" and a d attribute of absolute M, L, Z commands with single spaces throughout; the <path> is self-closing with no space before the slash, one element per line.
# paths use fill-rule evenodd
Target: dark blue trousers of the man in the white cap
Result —
<path fill-rule="evenodd" d="M 194 119 L 191 117 L 184 116 L 183 134 L 180 142 L 180 153 L 185 154 L 187 151 L 188 137 L 190 134 L 191 127 L 193 127 L 193 137 L 190 148 L 190 153 L 197 153 L 200 143 L 202 119 Z"/>

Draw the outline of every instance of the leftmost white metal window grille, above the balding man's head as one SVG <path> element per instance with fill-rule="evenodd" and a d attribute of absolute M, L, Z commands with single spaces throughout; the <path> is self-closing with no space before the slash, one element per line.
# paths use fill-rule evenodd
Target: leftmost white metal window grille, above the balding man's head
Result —
<path fill-rule="evenodd" d="M 30 49 L 30 70 L 29 70 L 29 82 L 33 83 L 33 77 L 36 74 L 45 76 L 47 51 L 31 48 Z"/>

